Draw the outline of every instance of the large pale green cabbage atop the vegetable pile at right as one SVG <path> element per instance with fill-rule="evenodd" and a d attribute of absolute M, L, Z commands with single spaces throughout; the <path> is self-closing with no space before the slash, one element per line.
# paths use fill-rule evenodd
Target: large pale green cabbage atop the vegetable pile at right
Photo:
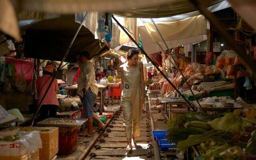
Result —
<path fill-rule="evenodd" d="M 242 118 L 233 114 L 232 112 L 226 113 L 222 118 L 215 118 L 208 124 L 214 130 L 226 130 L 229 132 L 239 133 L 242 131 Z"/>

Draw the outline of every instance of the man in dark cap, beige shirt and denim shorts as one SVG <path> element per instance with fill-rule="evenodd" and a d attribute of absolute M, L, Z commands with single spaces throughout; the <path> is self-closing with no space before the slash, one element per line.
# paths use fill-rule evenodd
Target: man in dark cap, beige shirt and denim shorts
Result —
<path fill-rule="evenodd" d="M 98 122 L 98 129 L 104 128 L 104 123 L 93 112 L 94 102 L 98 94 L 98 86 L 95 82 L 94 66 L 90 62 L 89 53 L 84 51 L 79 54 L 80 74 L 78 76 L 78 94 L 84 107 L 84 114 L 88 118 L 88 131 L 80 136 L 92 136 L 92 122 L 93 119 Z"/>

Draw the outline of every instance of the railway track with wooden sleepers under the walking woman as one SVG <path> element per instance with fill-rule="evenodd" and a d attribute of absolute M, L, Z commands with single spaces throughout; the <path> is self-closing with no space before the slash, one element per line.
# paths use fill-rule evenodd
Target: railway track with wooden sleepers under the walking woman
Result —
<path fill-rule="evenodd" d="M 83 159 L 122 160 L 126 157 L 126 159 L 132 160 L 140 158 L 155 160 L 154 152 L 156 151 L 154 150 L 158 150 L 158 146 L 155 144 L 156 148 L 154 148 L 154 138 L 152 135 L 152 124 L 154 125 L 154 122 L 150 115 L 148 100 L 146 100 L 145 108 L 146 113 L 143 113 L 143 119 L 140 120 L 140 136 L 136 138 L 136 147 L 132 142 L 132 152 L 125 150 L 127 140 L 124 133 L 123 112 L 120 109 L 108 121 L 107 127 L 98 135 L 98 138 L 95 138 L 94 141 L 88 144 L 90 147 L 88 152 L 84 154 Z"/>

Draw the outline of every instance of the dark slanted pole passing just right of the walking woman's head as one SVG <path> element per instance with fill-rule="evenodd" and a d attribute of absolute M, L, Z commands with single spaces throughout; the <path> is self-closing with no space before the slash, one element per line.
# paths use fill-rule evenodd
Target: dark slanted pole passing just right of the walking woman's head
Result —
<path fill-rule="evenodd" d="M 138 48 L 140 48 L 139 44 L 132 38 L 132 36 L 130 36 L 130 34 L 124 29 L 124 27 L 118 22 L 118 20 L 116 20 L 116 18 L 112 15 L 112 18 L 116 21 L 116 23 L 118 24 L 118 26 L 120 26 L 122 28 L 122 30 L 127 34 L 127 36 L 130 38 L 130 40 L 132 40 L 132 42 L 134 42 L 134 44 L 136 44 L 136 46 Z M 156 69 L 164 76 L 164 78 L 170 83 L 170 85 L 174 88 L 174 90 L 176 90 L 176 92 L 178 92 L 178 94 L 180 94 L 180 96 L 184 99 L 184 101 L 188 104 L 188 106 L 194 111 L 196 112 L 196 110 L 194 109 L 194 107 L 192 107 L 192 105 L 188 102 L 188 100 L 186 100 L 186 98 L 180 93 L 180 91 L 172 84 L 172 82 L 166 77 L 166 75 L 158 68 L 158 66 L 156 66 L 156 64 L 152 61 L 152 59 L 148 56 L 148 54 L 144 51 L 143 48 L 140 48 L 140 50 L 143 52 L 143 54 L 148 58 L 148 60 L 150 60 L 150 62 L 156 67 Z"/>

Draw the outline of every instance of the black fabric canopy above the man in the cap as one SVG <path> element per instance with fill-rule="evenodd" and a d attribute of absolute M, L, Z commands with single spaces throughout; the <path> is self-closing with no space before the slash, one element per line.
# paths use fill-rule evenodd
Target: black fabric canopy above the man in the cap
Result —
<path fill-rule="evenodd" d="M 61 15 L 59 18 L 23 26 L 21 30 L 26 32 L 24 56 L 61 61 L 79 25 L 74 15 Z M 75 62 L 77 52 L 88 51 L 92 58 L 108 49 L 103 42 L 94 38 L 90 30 L 82 26 L 65 61 Z"/>

